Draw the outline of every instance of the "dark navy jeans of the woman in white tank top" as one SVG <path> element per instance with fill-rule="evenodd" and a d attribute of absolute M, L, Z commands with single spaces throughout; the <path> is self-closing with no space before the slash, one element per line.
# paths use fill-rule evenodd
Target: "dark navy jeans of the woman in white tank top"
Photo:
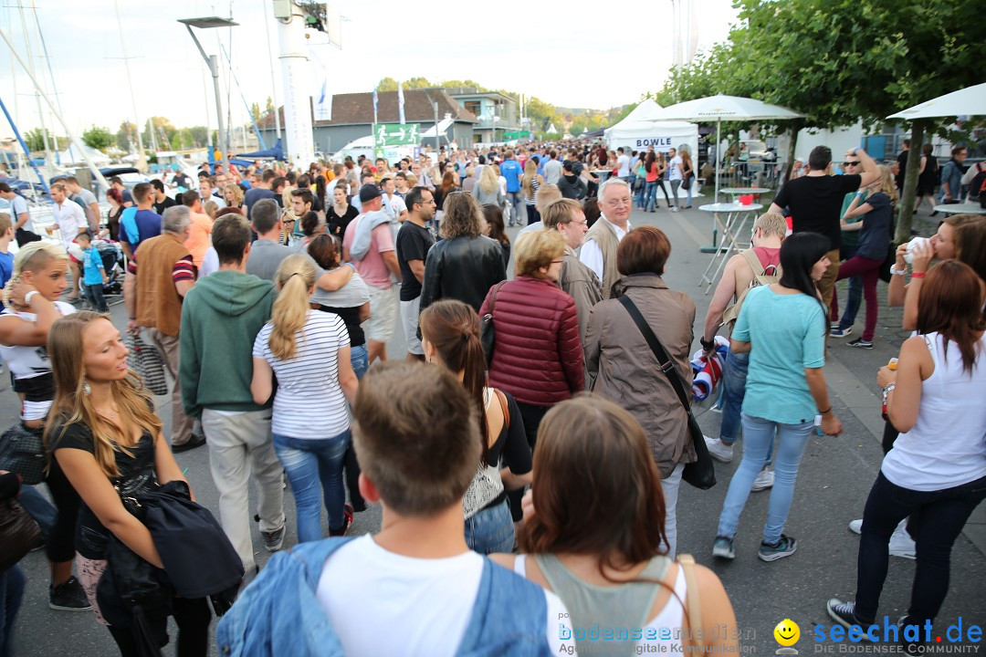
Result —
<path fill-rule="evenodd" d="M 863 511 L 856 575 L 856 613 L 860 620 L 877 618 L 890 535 L 901 520 L 909 517 L 907 529 L 914 536 L 918 562 L 908 623 L 934 621 L 949 593 L 951 546 L 984 498 L 986 477 L 943 491 L 911 491 L 892 484 L 881 472 Z"/>

